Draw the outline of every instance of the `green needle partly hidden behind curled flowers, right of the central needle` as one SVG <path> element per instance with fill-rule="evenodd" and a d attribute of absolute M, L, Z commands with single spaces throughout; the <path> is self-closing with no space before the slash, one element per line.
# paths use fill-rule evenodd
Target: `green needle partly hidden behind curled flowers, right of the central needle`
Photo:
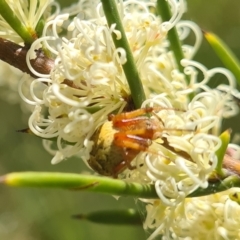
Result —
<path fill-rule="evenodd" d="M 162 20 L 164 22 L 169 21 L 171 18 L 171 11 L 168 5 L 168 1 L 166 0 L 158 0 L 157 1 L 157 11 L 159 15 L 162 17 Z M 178 38 L 177 30 L 175 27 L 173 27 L 171 30 L 168 32 L 168 40 L 170 42 L 170 48 L 174 54 L 178 69 L 180 72 L 184 72 L 184 68 L 181 65 L 181 60 L 184 58 L 183 51 L 182 51 L 182 46 Z M 187 81 L 189 81 L 188 78 L 186 78 Z"/>

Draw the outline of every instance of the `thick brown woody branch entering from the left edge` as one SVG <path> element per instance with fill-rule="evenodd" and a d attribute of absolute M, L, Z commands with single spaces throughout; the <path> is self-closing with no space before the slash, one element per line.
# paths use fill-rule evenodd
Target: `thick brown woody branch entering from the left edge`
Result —
<path fill-rule="evenodd" d="M 36 76 L 29 70 L 26 63 L 28 50 L 27 47 L 0 38 L 0 60 L 36 78 Z M 41 50 L 36 51 L 36 56 L 35 59 L 30 60 L 34 70 L 42 74 L 49 74 L 54 66 L 54 60 L 46 57 Z"/>

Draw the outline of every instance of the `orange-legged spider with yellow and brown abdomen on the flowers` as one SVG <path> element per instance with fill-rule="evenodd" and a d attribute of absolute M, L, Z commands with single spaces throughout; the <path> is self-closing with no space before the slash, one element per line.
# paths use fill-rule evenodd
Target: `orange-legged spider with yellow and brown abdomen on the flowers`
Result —
<path fill-rule="evenodd" d="M 148 151 L 152 140 L 161 137 L 163 130 L 178 130 L 164 128 L 164 123 L 154 110 L 156 108 L 147 107 L 109 115 L 109 121 L 104 123 L 92 138 L 94 146 L 88 160 L 92 169 L 101 175 L 116 178 L 126 168 L 135 168 L 131 165 L 132 160 L 141 151 Z M 155 118 L 150 118 L 150 114 Z M 166 139 L 163 143 L 168 145 Z M 170 146 L 168 148 L 173 150 Z"/>

